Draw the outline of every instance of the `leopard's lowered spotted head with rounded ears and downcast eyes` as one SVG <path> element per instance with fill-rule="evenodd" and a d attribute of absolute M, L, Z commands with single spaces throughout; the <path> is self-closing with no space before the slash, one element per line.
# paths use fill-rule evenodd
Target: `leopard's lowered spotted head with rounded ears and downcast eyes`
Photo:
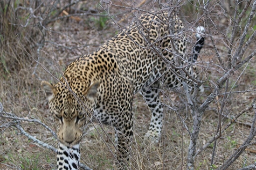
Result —
<path fill-rule="evenodd" d="M 49 100 L 51 116 L 57 125 L 60 143 L 73 146 L 81 141 L 83 127 L 92 117 L 99 84 L 92 83 L 86 88 L 67 86 L 66 83 L 52 85 L 49 82 L 41 82 Z"/>

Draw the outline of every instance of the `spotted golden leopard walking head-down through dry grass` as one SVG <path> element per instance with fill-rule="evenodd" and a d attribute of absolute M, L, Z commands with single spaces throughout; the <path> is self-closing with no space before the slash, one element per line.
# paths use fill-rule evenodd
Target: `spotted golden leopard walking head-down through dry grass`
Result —
<path fill-rule="evenodd" d="M 116 164 L 127 166 L 137 92 L 151 113 L 145 137 L 158 142 L 163 127 L 161 88 L 174 90 L 199 77 L 193 63 L 204 45 L 205 28 L 197 27 L 197 41 L 187 59 L 185 29 L 176 14 L 144 13 L 93 53 L 68 65 L 58 83 L 41 82 L 57 125 L 58 169 L 78 169 L 79 143 L 93 119 L 114 127 Z M 186 65 L 185 78 L 179 64 Z"/>

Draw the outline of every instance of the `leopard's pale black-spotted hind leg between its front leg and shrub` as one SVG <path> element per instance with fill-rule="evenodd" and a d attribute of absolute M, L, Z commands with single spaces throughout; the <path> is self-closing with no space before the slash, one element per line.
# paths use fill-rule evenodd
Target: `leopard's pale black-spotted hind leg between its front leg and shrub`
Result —
<path fill-rule="evenodd" d="M 163 106 L 160 99 L 160 82 L 156 81 L 153 85 L 143 87 L 142 95 L 151 112 L 149 130 L 145 135 L 146 139 L 157 143 L 163 126 Z"/>

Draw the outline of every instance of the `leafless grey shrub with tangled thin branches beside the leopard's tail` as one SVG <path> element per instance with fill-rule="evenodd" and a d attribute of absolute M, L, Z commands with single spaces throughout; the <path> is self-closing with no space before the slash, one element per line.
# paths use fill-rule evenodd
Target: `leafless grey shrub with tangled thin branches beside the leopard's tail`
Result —
<path fill-rule="evenodd" d="M 213 51 L 215 55 L 214 58 L 217 58 L 217 61 L 204 62 L 204 65 L 216 65 L 218 69 L 222 70 L 222 73 L 219 75 L 219 78 L 216 80 L 212 80 L 209 78 L 210 74 L 206 75 L 206 82 L 209 83 L 211 87 L 211 93 L 207 95 L 204 99 L 203 104 L 199 104 L 196 99 L 196 93 L 188 93 L 186 92 L 186 99 L 188 100 L 188 105 L 190 106 L 190 112 L 193 117 L 193 125 L 192 131 L 187 128 L 190 134 L 190 144 L 188 148 L 188 166 L 187 169 L 195 169 L 195 159 L 202 150 L 204 150 L 207 146 L 209 146 L 212 142 L 214 142 L 212 149 L 212 158 L 211 158 L 211 166 L 215 164 L 215 152 L 219 138 L 223 136 L 223 132 L 230 128 L 230 125 L 236 122 L 241 115 L 243 115 L 248 110 L 252 110 L 255 108 L 254 103 L 255 99 L 251 101 L 251 106 L 248 106 L 246 109 L 241 109 L 240 113 L 236 116 L 231 112 L 232 110 L 227 109 L 227 104 L 230 100 L 234 100 L 231 97 L 231 94 L 238 93 L 249 93 L 248 91 L 236 91 L 234 90 L 234 86 L 237 84 L 239 79 L 243 76 L 243 71 L 247 69 L 247 65 L 252 61 L 252 58 L 255 56 L 256 50 L 253 49 L 255 42 L 255 20 L 253 21 L 253 17 L 255 16 L 256 2 L 255 1 L 234 1 L 232 6 L 233 10 L 225 11 L 224 9 L 228 9 L 227 6 L 221 6 L 218 2 L 205 2 L 202 1 L 199 8 L 202 9 L 204 17 L 204 24 L 207 28 L 207 33 L 210 38 L 211 45 L 213 47 Z M 225 16 L 228 18 L 232 18 L 228 27 L 224 31 L 218 25 L 214 19 L 213 11 L 216 8 L 220 8 Z M 222 15 L 219 15 L 222 16 Z M 246 18 L 246 20 L 245 20 Z M 218 23 L 218 24 L 217 24 Z M 222 34 L 222 38 L 217 38 L 215 33 L 218 32 Z M 218 41 L 222 41 L 221 45 L 225 47 L 225 51 L 220 51 L 217 47 L 219 45 Z M 254 42 L 253 42 L 254 41 Z M 246 64 L 246 66 L 244 66 Z M 239 72 L 240 68 L 244 68 L 241 73 Z M 232 77 L 232 75 L 238 73 L 237 78 Z M 230 85 L 231 77 L 236 79 L 234 84 Z M 186 82 L 183 82 L 184 89 L 187 86 Z M 197 88 L 197 86 L 196 86 Z M 252 90 L 254 91 L 254 90 Z M 211 102 L 215 101 L 215 109 L 217 110 L 219 120 L 218 126 L 216 128 L 216 134 L 211 139 L 211 141 L 207 142 L 203 147 L 197 149 L 197 141 L 198 135 L 200 132 L 200 125 L 202 123 L 202 116 L 206 112 L 206 108 L 209 108 Z M 226 108 L 226 110 L 225 110 Z M 230 118 L 232 115 L 232 119 Z M 234 117 L 233 117 L 234 116 Z M 231 119 L 230 123 L 224 126 L 225 118 Z M 252 140 L 255 136 L 255 114 L 254 118 L 249 119 L 251 121 L 251 132 L 245 139 L 245 142 L 240 145 L 237 151 L 232 153 L 229 156 L 229 159 L 223 162 L 222 166 L 219 166 L 217 169 L 226 169 L 229 167 L 239 156 L 243 153 L 248 145 L 252 145 Z M 186 127 L 186 126 L 185 126 Z M 255 162 L 253 163 L 255 167 Z M 251 166 L 252 167 L 252 166 Z M 212 167 L 213 168 L 213 167 Z"/>

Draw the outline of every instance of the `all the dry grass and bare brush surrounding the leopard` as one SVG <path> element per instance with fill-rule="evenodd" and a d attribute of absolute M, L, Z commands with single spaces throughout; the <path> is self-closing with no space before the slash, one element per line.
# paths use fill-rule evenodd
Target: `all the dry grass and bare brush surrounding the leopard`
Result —
<path fill-rule="evenodd" d="M 256 17 L 250 0 L 0 1 L 0 169 L 56 168 L 57 139 L 45 129 L 55 127 L 41 80 L 56 82 L 69 63 L 94 51 L 134 17 L 167 5 L 179 11 L 188 30 L 188 55 L 195 43 L 192 30 L 206 28 L 196 63 L 205 77 L 205 92 L 163 91 L 165 123 L 158 145 L 143 141 L 150 113 L 135 95 L 131 168 L 256 169 Z M 92 169 L 113 169 L 113 138 L 110 127 L 88 127 L 81 162 Z"/>

